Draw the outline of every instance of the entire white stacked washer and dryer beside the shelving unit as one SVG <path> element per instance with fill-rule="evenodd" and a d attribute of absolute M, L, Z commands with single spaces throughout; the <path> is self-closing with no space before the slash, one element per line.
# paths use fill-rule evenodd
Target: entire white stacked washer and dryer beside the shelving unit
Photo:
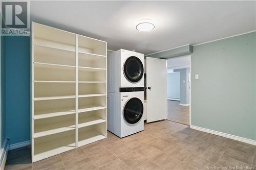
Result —
<path fill-rule="evenodd" d="M 108 56 L 108 130 L 125 137 L 144 130 L 144 55 L 118 50 Z"/>

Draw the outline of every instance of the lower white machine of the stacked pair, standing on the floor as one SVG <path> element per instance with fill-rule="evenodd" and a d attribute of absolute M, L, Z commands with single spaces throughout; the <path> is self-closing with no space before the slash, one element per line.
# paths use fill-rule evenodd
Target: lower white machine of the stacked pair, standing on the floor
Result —
<path fill-rule="evenodd" d="M 108 130 L 125 137 L 144 130 L 144 92 L 108 93 Z"/>

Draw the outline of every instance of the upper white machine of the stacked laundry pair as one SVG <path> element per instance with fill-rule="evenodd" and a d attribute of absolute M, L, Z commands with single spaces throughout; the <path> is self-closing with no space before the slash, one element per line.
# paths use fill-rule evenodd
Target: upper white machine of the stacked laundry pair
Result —
<path fill-rule="evenodd" d="M 108 92 L 144 87 L 144 54 L 120 49 L 108 56 Z M 136 90 L 134 90 L 136 91 Z"/>

